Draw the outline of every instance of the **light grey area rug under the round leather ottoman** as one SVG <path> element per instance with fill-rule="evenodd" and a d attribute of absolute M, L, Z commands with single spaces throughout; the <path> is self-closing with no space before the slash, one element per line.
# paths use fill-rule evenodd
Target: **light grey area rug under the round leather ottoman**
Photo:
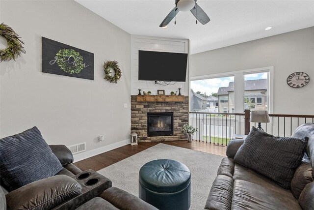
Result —
<path fill-rule="evenodd" d="M 177 160 L 191 171 L 190 210 L 202 210 L 222 158 L 219 155 L 160 143 L 103 168 L 98 173 L 110 179 L 113 186 L 138 196 L 138 172 L 145 163 L 156 159 Z"/>

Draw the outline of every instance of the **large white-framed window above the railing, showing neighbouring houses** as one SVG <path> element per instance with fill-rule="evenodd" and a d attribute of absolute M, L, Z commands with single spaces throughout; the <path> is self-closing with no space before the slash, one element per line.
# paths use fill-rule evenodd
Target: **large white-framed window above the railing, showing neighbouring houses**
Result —
<path fill-rule="evenodd" d="M 191 78 L 190 87 L 194 92 L 213 95 L 214 106 L 208 107 L 209 112 L 224 111 L 243 113 L 244 109 L 273 110 L 273 67 L 240 70 L 215 75 Z M 192 106 L 192 105 L 191 105 Z M 190 107 L 191 107 L 190 106 Z M 217 110 L 217 111 L 216 111 Z"/>

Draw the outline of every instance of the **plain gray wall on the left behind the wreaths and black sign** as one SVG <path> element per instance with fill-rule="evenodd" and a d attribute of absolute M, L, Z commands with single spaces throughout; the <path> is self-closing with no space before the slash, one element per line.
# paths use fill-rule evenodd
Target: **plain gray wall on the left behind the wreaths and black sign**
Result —
<path fill-rule="evenodd" d="M 49 144 L 86 142 L 87 150 L 129 139 L 129 33 L 72 0 L 1 1 L 0 21 L 22 37 L 26 49 L 16 62 L 0 63 L 0 137 L 37 126 Z M 94 53 L 94 80 L 42 73 L 41 36 Z M 117 84 L 105 81 L 105 60 L 119 62 Z"/>

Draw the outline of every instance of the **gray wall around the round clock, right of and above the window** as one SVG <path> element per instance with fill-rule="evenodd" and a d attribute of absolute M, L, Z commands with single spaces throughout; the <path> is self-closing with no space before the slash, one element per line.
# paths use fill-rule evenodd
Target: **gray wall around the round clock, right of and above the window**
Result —
<path fill-rule="evenodd" d="M 190 76 L 266 66 L 274 66 L 274 114 L 314 115 L 314 27 L 191 55 Z M 288 87 L 295 71 L 309 74 L 306 87 Z"/>

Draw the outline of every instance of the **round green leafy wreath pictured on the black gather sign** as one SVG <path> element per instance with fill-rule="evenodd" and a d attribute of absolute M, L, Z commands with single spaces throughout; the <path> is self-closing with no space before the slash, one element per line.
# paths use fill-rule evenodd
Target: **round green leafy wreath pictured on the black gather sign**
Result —
<path fill-rule="evenodd" d="M 55 55 L 56 62 L 62 71 L 78 74 L 84 68 L 83 57 L 73 49 L 61 49 Z"/>

